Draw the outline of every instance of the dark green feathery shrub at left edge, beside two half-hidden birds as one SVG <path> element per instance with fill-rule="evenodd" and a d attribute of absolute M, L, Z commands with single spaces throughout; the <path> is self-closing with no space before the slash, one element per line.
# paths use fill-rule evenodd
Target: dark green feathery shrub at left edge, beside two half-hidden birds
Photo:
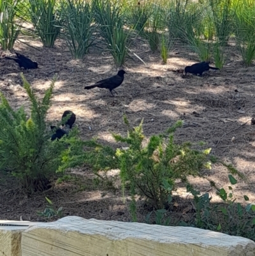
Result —
<path fill-rule="evenodd" d="M 47 132 L 45 117 L 55 80 L 41 102 L 23 75 L 22 80 L 31 102 L 28 119 L 24 107 L 13 110 L 1 94 L 0 171 L 10 170 L 27 191 L 42 191 L 48 188 L 50 178 L 61 164 L 61 154 L 66 150 L 68 139 L 73 138 L 69 134 L 68 138 L 52 142 L 50 132 Z"/>

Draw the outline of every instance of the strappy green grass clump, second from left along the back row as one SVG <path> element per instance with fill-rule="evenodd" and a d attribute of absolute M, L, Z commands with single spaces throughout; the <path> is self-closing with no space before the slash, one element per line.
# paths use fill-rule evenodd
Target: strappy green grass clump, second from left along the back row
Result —
<path fill-rule="evenodd" d="M 29 0 L 29 14 L 43 46 L 54 47 L 62 27 L 62 8 L 56 0 Z"/>

